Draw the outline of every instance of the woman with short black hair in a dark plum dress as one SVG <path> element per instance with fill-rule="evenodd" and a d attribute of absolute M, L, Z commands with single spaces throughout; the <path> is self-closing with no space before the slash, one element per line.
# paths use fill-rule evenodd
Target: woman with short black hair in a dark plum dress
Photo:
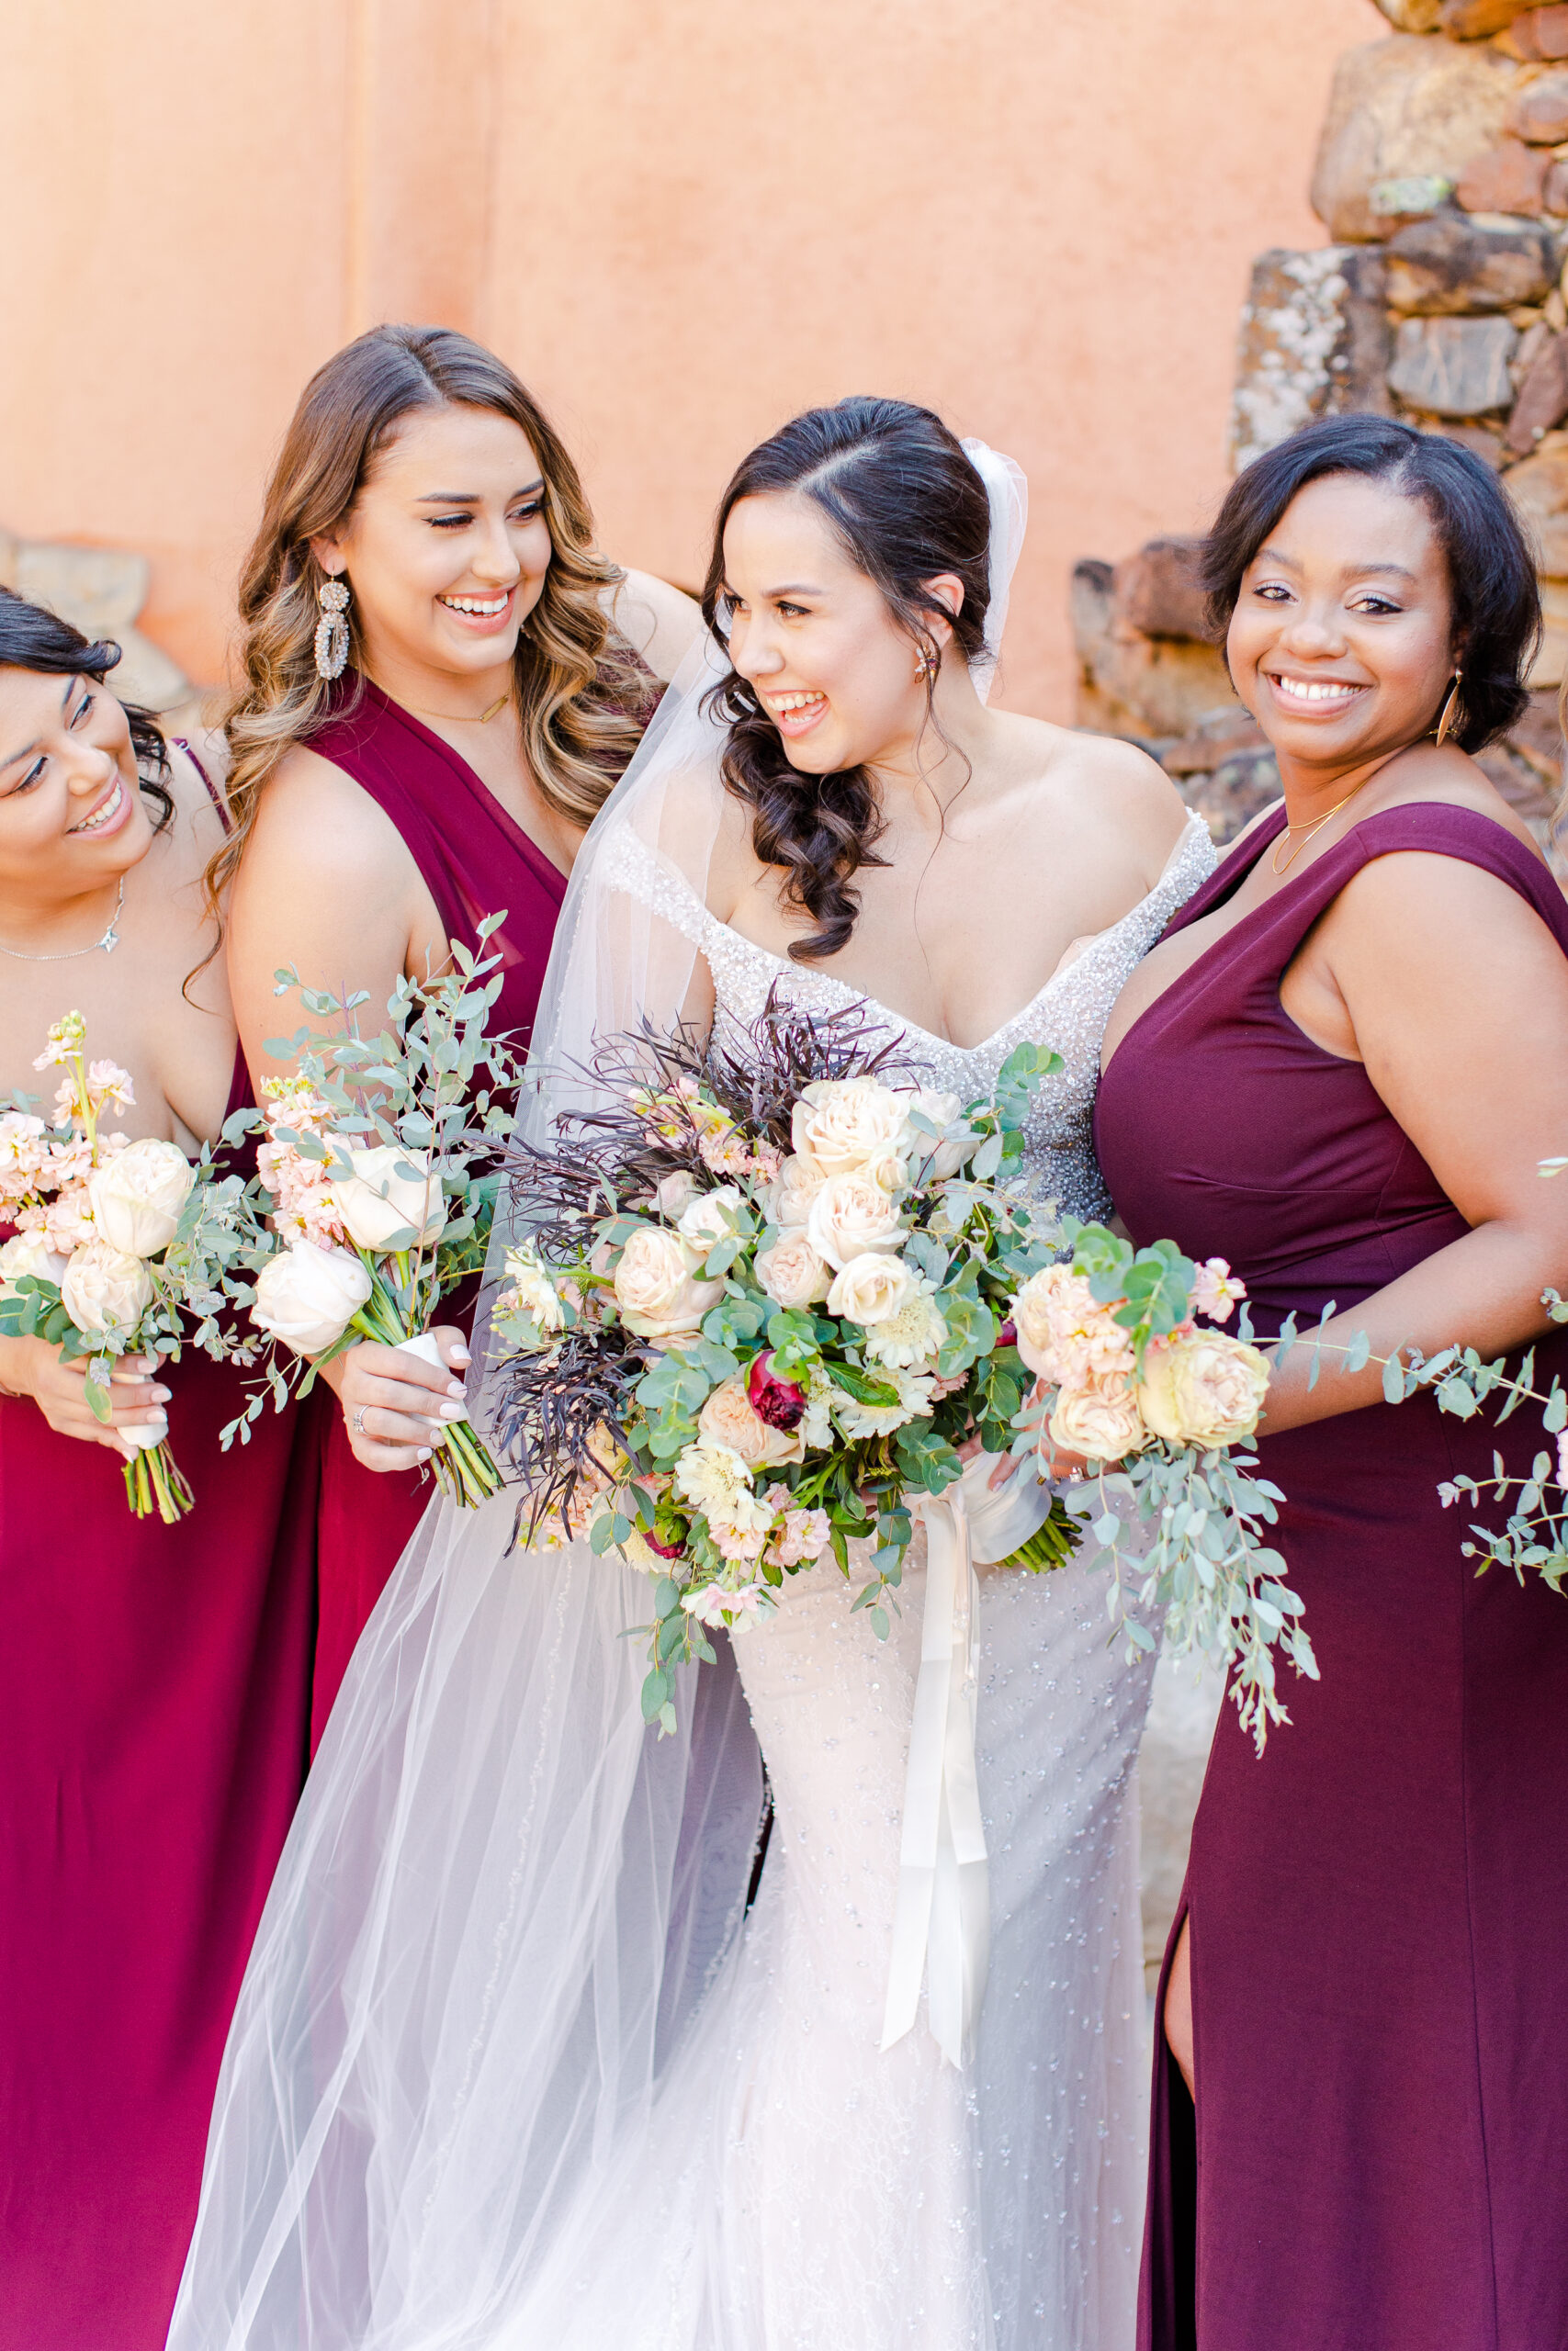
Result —
<path fill-rule="evenodd" d="M 1100 1161 L 1131 1234 L 1222 1253 L 1260 1331 L 1537 1345 L 1568 1267 L 1568 905 L 1474 764 L 1523 708 L 1535 574 L 1493 475 L 1345 416 L 1208 538 L 1284 806 L 1128 980 Z M 1333 1361 L 1324 1359 L 1326 1366 Z M 1145 2351 L 1568 2344 L 1568 1601 L 1476 1578 L 1439 1481 L 1540 1415 L 1276 1361 L 1262 1467 L 1321 1681 L 1215 1735 L 1161 1980 Z M 1194 2104 L 1197 2102 L 1197 2104 Z"/>

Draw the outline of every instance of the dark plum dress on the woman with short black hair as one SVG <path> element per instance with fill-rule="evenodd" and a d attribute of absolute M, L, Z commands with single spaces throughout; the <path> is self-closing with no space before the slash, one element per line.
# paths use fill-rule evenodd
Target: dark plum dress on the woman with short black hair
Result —
<path fill-rule="evenodd" d="M 1568 955 L 1568 905 L 1509 832 L 1387 809 L 1215 940 L 1100 1084 L 1128 1232 L 1229 1258 L 1262 1333 L 1467 1230 L 1366 1070 L 1279 1002 L 1324 907 L 1401 849 L 1497 875 Z M 1568 1335 L 1537 1366 L 1568 1373 Z M 1234 1707 L 1215 1733 L 1171 1933 L 1190 1918 L 1197 2118 L 1161 2038 L 1140 2351 L 1568 2344 L 1568 1599 L 1476 1578 L 1436 1493 L 1540 1446 L 1535 1408 L 1497 1429 L 1429 1396 L 1262 1441 L 1324 1679 L 1286 1676 L 1262 1759 Z"/>

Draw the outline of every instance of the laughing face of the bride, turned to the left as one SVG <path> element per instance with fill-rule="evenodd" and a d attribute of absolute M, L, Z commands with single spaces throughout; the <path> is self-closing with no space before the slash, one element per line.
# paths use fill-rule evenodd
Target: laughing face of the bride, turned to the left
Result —
<path fill-rule="evenodd" d="M 957 609 L 957 578 L 931 585 Z M 778 726 L 790 766 L 837 776 L 910 755 L 926 724 L 919 647 L 820 505 L 778 491 L 731 508 L 724 611 L 729 658 Z"/>

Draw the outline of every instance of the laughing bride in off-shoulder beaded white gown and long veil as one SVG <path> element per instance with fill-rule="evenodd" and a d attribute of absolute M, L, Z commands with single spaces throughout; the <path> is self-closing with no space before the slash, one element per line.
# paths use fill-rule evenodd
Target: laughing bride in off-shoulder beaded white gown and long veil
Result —
<path fill-rule="evenodd" d="M 684 1013 L 733 1044 L 778 987 L 865 1004 L 966 1100 L 1056 1046 L 1030 1166 L 1105 1211 L 1100 1030 L 1213 851 L 1143 752 L 987 708 L 1020 538 L 1018 470 L 905 402 L 745 458 L 712 642 L 578 858 L 538 1133 L 595 1034 Z M 987 1472 L 943 1505 L 973 1561 L 1039 1516 Z M 827 1559 L 661 1740 L 623 1639 L 639 1575 L 510 1535 L 505 1495 L 430 1509 L 360 1641 L 240 1998 L 172 2351 L 1131 2344 L 1150 1674 L 1107 1643 L 1103 1578 L 983 1568 L 971 1622 L 969 1563 L 926 1608 L 917 1540 L 879 1641 Z M 950 1665 L 983 1846 L 952 1733 L 912 1740 Z M 926 1813 L 922 1862 L 900 1824 Z"/>

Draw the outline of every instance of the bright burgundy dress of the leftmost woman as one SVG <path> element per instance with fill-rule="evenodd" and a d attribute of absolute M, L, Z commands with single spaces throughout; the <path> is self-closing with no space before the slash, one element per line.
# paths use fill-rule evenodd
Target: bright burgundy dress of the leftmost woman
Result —
<path fill-rule="evenodd" d="M 0 2351 L 160 2351 L 306 1777 L 303 1415 L 221 1453 L 237 1373 L 186 1354 L 162 1378 L 179 1526 L 129 1514 L 118 1455 L 0 1396 Z"/>

